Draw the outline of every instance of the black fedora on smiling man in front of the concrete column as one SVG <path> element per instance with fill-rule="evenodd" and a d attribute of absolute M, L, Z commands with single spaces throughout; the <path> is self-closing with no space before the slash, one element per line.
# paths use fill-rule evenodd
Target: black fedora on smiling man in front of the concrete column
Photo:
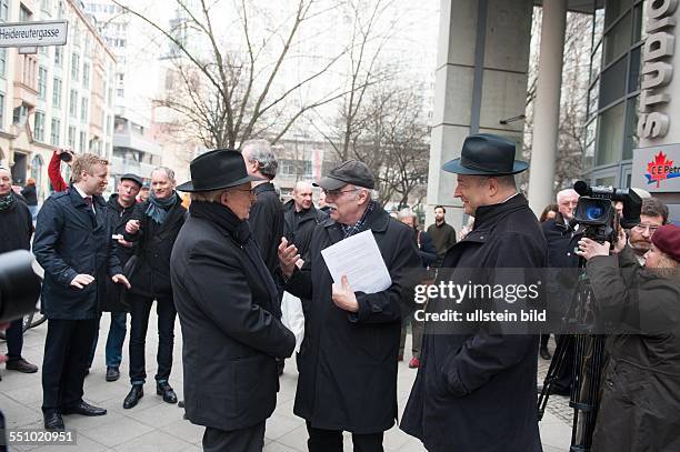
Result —
<path fill-rule="evenodd" d="M 514 160 L 516 144 L 491 133 L 466 138 L 460 159 L 451 160 L 443 170 L 456 174 L 510 175 L 529 168 L 529 163 Z"/>

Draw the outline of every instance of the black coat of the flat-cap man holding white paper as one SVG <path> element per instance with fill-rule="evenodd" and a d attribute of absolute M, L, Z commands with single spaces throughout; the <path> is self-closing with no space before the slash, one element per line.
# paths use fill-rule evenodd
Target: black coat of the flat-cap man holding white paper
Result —
<path fill-rule="evenodd" d="M 332 278 L 321 250 L 338 243 L 339 223 L 328 219 L 313 231 L 308 260 L 287 290 L 306 308 L 304 340 L 298 358 L 294 413 L 317 429 L 377 433 L 397 418 L 397 352 L 401 297 L 407 273 L 420 260 L 412 229 L 376 208 L 362 230 L 371 230 L 392 285 L 378 293 L 357 292 L 359 312 L 333 304 Z"/>

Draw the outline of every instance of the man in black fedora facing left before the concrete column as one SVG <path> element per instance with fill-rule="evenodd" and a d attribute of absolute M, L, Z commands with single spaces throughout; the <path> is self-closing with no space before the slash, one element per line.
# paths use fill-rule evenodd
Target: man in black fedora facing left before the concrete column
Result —
<path fill-rule="evenodd" d="M 474 229 L 446 253 L 438 284 L 464 284 L 470 274 L 487 278 L 481 269 L 547 265 L 538 220 L 514 184 L 513 174 L 528 164 L 516 161 L 514 152 L 514 143 L 480 133 L 464 140 L 460 159 L 443 165 L 457 174 L 454 197 L 474 217 Z M 437 305 L 431 299 L 428 309 Z M 489 324 L 439 333 L 433 333 L 439 325 L 429 327 L 401 429 L 428 451 L 541 451 L 538 337 L 502 334 Z"/>

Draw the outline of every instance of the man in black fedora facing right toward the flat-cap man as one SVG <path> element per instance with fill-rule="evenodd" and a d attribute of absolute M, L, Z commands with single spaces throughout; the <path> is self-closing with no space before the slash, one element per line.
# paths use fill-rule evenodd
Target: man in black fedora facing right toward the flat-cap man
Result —
<path fill-rule="evenodd" d="M 182 329 L 187 419 L 204 425 L 204 451 L 261 451 L 277 402 L 277 358 L 296 338 L 280 321 L 277 285 L 248 217 L 254 201 L 241 154 L 204 153 L 190 164 L 189 219 L 171 257 Z"/>

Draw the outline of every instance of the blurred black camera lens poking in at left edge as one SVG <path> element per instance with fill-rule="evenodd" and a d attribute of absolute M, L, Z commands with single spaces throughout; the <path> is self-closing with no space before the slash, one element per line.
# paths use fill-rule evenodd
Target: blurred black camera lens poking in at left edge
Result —
<path fill-rule="evenodd" d="M 33 255 L 26 250 L 0 254 L 0 323 L 36 311 L 40 278 L 32 263 Z"/>

